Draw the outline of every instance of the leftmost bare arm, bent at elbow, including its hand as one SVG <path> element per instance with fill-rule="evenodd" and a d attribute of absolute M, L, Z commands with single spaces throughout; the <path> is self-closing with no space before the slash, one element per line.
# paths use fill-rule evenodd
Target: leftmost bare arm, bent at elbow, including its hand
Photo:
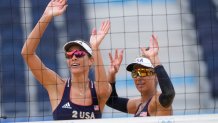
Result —
<path fill-rule="evenodd" d="M 53 16 L 61 15 L 66 10 L 66 7 L 66 0 L 52 0 L 49 2 L 44 14 L 29 34 L 21 52 L 35 78 L 46 88 L 48 84 L 56 83 L 59 77 L 42 63 L 36 54 L 36 49 Z"/>

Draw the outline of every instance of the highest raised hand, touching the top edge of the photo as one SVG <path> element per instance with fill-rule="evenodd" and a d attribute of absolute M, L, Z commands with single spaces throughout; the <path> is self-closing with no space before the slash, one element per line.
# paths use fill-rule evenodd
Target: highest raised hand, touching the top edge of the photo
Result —
<path fill-rule="evenodd" d="M 63 14 L 66 8 L 67 0 L 51 0 L 47 5 L 44 14 L 49 16 L 59 16 Z"/>

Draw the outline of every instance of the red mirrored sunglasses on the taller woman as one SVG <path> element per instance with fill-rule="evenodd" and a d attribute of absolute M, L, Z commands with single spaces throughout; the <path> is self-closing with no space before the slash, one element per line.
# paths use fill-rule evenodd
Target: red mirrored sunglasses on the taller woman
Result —
<path fill-rule="evenodd" d="M 73 56 L 76 56 L 76 58 L 82 58 L 85 55 L 86 55 L 86 52 L 82 50 L 72 50 L 70 52 L 65 52 L 65 57 L 67 59 L 71 59 Z"/>

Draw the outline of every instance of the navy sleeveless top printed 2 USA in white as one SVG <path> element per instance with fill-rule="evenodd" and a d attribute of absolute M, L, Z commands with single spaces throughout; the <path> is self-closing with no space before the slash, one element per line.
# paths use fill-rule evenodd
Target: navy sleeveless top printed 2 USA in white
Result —
<path fill-rule="evenodd" d="M 53 112 L 54 120 L 95 119 L 101 118 L 102 114 L 98 105 L 98 98 L 94 83 L 90 81 L 92 105 L 81 106 L 70 101 L 71 79 L 68 79 L 60 104 Z"/>

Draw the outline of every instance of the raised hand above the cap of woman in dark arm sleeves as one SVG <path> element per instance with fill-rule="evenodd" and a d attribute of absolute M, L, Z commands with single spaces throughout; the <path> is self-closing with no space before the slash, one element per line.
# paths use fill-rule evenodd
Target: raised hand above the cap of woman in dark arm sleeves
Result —
<path fill-rule="evenodd" d="M 152 34 L 149 42 L 149 47 L 141 48 L 141 51 L 146 58 L 150 59 L 152 64 L 159 62 L 159 58 L 158 58 L 159 45 L 158 45 L 157 36 Z"/>

